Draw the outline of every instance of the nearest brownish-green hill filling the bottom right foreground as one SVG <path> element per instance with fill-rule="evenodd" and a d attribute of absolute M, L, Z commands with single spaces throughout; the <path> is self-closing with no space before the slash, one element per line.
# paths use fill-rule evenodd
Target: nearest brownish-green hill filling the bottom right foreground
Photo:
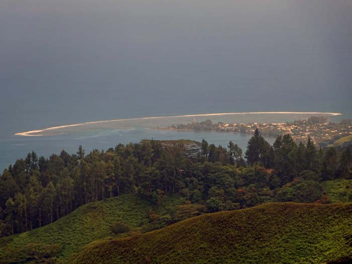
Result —
<path fill-rule="evenodd" d="M 272 203 L 96 241 L 73 263 L 324 263 L 352 256 L 348 235 L 352 203 Z"/>

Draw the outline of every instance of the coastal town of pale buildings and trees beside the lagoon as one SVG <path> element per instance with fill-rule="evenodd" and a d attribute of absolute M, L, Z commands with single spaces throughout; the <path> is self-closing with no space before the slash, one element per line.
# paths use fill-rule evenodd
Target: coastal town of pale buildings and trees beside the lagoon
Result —
<path fill-rule="evenodd" d="M 352 135 L 352 121 L 342 120 L 340 122 L 328 122 L 326 117 L 312 116 L 306 120 L 297 120 L 285 123 L 213 123 L 211 120 L 204 122 L 193 122 L 189 124 L 174 124 L 164 129 L 175 130 L 194 130 L 194 131 L 216 131 L 230 133 L 250 133 L 258 128 L 263 136 L 290 134 L 297 142 L 306 142 L 308 137 L 315 143 L 324 147 L 333 144 L 336 140 Z"/>

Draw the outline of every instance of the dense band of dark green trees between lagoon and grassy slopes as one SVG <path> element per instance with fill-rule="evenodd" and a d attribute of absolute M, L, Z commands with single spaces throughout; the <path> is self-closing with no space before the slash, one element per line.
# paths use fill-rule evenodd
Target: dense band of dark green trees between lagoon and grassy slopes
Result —
<path fill-rule="evenodd" d="M 155 205 L 178 195 L 207 212 L 275 201 L 329 203 L 321 184 L 334 179 L 352 179 L 350 148 L 317 149 L 310 138 L 297 144 L 289 134 L 270 145 L 258 130 L 245 153 L 231 141 L 224 148 L 205 140 L 142 140 L 88 154 L 79 146 L 76 154 L 62 150 L 49 158 L 33 151 L 0 175 L 0 236 L 128 193 Z"/>

